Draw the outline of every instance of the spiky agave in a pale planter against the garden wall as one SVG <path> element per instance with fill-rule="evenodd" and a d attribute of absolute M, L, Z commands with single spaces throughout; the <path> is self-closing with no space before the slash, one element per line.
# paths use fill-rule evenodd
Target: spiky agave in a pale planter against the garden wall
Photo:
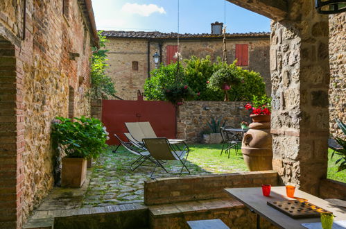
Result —
<path fill-rule="evenodd" d="M 223 137 L 220 135 L 220 127 L 225 127 L 227 120 L 223 121 L 222 125 L 221 121 L 222 119 L 216 120 L 212 117 L 211 120 L 207 122 L 208 128 L 202 131 L 202 143 L 220 144 L 223 142 Z"/>

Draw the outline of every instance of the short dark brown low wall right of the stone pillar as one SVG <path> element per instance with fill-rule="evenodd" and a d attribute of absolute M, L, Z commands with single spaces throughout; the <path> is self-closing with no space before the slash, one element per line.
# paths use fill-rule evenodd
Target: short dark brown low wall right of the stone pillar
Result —
<path fill-rule="evenodd" d="M 320 182 L 321 198 L 340 198 L 346 201 L 346 183 L 323 179 Z"/>

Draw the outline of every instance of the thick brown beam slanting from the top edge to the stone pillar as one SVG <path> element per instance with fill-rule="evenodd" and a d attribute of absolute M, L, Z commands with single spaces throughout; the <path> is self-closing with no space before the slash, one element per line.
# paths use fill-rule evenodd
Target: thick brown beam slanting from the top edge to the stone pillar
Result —
<path fill-rule="evenodd" d="M 285 19 L 288 13 L 287 0 L 227 0 L 237 6 L 257 12 L 275 21 Z"/>

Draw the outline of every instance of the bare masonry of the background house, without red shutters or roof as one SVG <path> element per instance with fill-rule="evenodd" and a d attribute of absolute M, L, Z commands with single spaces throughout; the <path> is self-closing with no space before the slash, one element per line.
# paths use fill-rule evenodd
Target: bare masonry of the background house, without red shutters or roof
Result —
<path fill-rule="evenodd" d="M 166 46 L 176 45 L 176 40 L 162 41 L 162 63 L 166 65 Z M 249 65 L 244 69 L 258 71 L 266 83 L 266 92 L 270 95 L 269 70 L 269 39 L 268 38 L 229 38 L 227 40 L 227 57 L 229 62 L 235 59 L 235 45 L 249 45 Z M 109 49 L 107 74 L 115 83 L 117 95 L 122 99 L 136 100 L 137 90 L 144 90 L 144 83 L 148 78 L 148 71 L 155 69 L 153 55 L 159 53 L 159 42 L 151 40 L 148 68 L 148 40 L 135 38 L 107 37 L 106 49 Z M 211 60 L 223 56 L 223 41 L 217 40 L 180 40 L 182 59 L 198 56 Z M 138 70 L 132 69 L 132 62 L 138 62 Z"/>

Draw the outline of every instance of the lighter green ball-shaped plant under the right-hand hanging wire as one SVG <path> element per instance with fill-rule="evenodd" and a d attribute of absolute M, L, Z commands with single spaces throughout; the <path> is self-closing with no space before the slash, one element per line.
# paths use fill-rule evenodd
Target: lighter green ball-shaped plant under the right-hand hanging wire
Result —
<path fill-rule="evenodd" d="M 212 90 L 223 90 L 225 93 L 225 101 L 229 101 L 227 91 L 231 89 L 232 85 L 237 85 L 241 82 L 238 69 L 234 64 L 223 65 L 211 75 L 207 81 Z"/>

